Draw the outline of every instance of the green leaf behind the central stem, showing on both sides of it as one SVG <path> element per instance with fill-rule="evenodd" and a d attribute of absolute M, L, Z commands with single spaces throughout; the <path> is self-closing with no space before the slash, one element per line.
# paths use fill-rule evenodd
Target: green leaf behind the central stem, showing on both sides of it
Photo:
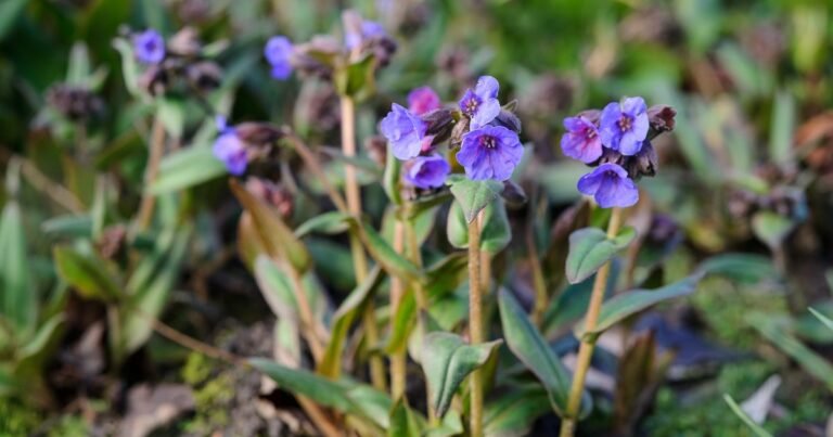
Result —
<path fill-rule="evenodd" d="M 500 198 L 490 203 L 483 213 L 484 224 L 480 230 L 480 248 L 490 254 L 502 250 L 512 241 L 512 230 L 507 216 L 507 208 Z M 469 227 L 460 203 L 451 204 L 446 222 L 448 242 L 457 248 L 469 247 Z"/>

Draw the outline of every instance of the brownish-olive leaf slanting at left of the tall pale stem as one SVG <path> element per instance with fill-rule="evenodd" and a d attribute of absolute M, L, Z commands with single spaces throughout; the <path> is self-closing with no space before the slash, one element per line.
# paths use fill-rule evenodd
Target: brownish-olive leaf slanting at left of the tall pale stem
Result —
<path fill-rule="evenodd" d="M 252 215 L 257 234 L 267 254 L 273 258 L 284 258 L 304 273 L 311 265 L 311 258 L 304 243 L 295 236 L 283 222 L 281 215 L 261 200 L 253 196 L 238 181 L 230 181 L 231 191 L 243 207 Z"/>

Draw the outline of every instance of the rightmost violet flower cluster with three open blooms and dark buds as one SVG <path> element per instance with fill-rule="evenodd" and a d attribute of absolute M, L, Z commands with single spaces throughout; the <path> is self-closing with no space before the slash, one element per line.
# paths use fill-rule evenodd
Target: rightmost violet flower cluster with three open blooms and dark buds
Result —
<path fill-rule="evenodd" d="M 562 151 L 595 167 L 578 180 L 578 191 L 593 196 L 602 208 L 635 205 L 639 201 L 636 180 L 656 173 L 656 152 L 650 140 L 674 129 L 675 115 L 664 105 L 649 110 L 637 97 L 565 118 Z"/>

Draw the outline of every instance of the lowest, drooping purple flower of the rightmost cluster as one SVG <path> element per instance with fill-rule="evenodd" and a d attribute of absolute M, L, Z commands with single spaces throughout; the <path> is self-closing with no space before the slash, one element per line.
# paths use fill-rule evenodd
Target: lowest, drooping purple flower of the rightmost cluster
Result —
<path fill-rule="evenodd" d="M 616 164 L 602 164 L 578 180 L 578 191 L 591 195 L 602 208 L 631 206 L 639 201 L 639 189 L 628 172 Z"/>

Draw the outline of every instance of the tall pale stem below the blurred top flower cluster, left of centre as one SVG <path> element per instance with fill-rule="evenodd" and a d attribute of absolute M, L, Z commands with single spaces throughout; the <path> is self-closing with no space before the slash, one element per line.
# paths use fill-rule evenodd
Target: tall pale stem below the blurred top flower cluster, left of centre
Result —
<path fill-rule="evenodd" d="M 356 105 L 353 99 L 343 95 L 342 102 L 342 152 L 344 156 L 350 158 L 356 156 Z M 344 167 L 344 191 L 347 197 L 347 210 L 357 220 L 361 219 L 361 191 L 359 181 L 356 178 L 356 167 L 346 165 Z M 350 234 L 350 254 L 353 255 L 353 268 L 356 272 L 356 283 L 361 284 L 368 274 L 368 258 L 364 254 L 364 247 L 356 233 Z M 379 330 L 376 327 L 375 305 L 369 301 L 364 307 L 362 314 L 364 325 L 364 335 L 369 346 L 375 346 L 379 343 Z M 385 364 L 382 357 L 372 355 L 370 357 L 370 380 L 373 386 L 380 390 L 385 390 Z"/>

